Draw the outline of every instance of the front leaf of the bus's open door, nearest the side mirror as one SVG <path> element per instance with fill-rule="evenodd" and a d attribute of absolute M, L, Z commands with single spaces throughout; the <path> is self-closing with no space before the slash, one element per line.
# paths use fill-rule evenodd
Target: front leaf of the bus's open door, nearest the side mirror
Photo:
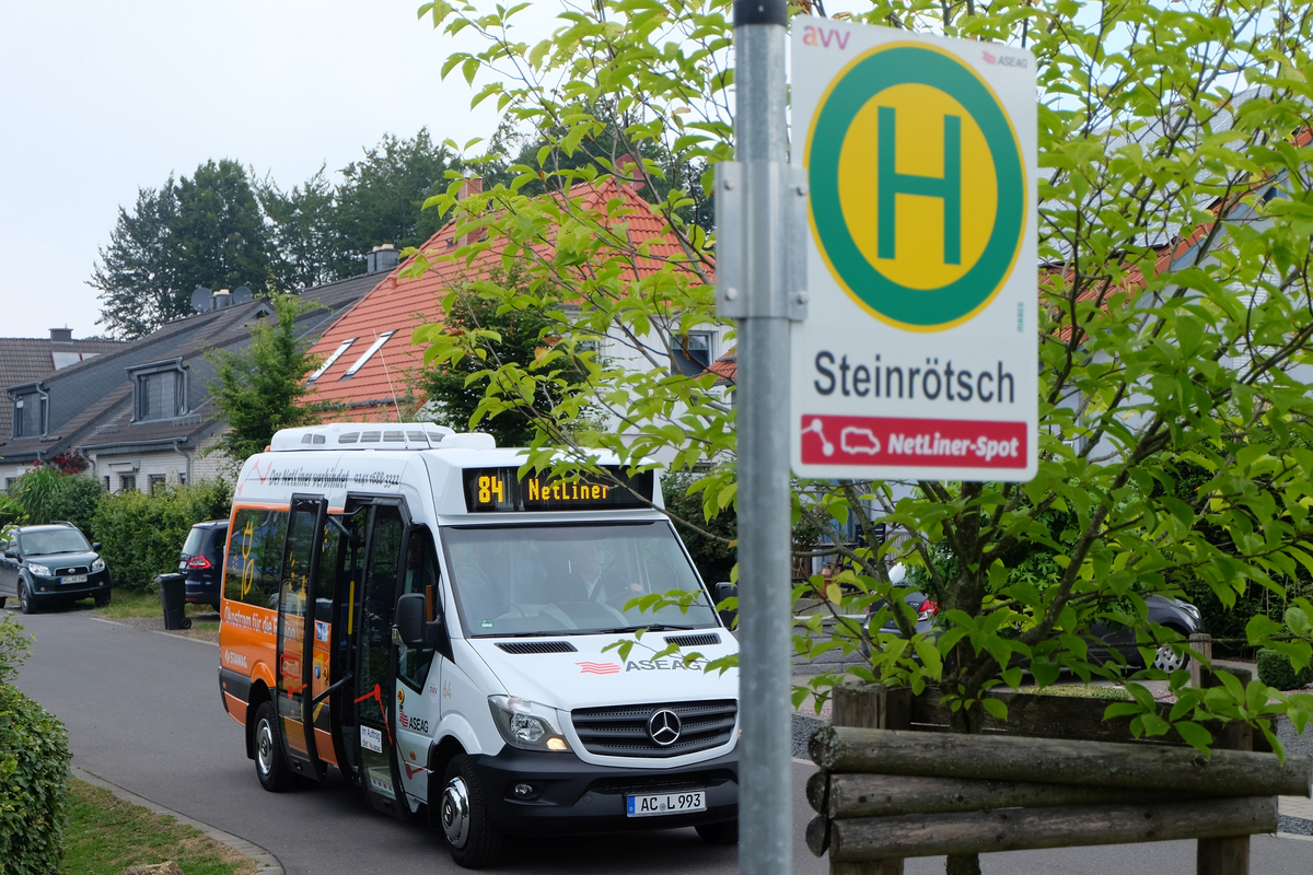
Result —
<path fill-rule="evenodd" d="M 356 724 L 360 733 L 360 777 L 370 807 L 394 817 L 410 816 L 402 799 L 397 760 L 393 613 L 406 542 L 402 509 L 376 504 L 361 576 L 360 631 L 356 647 Z"/>

